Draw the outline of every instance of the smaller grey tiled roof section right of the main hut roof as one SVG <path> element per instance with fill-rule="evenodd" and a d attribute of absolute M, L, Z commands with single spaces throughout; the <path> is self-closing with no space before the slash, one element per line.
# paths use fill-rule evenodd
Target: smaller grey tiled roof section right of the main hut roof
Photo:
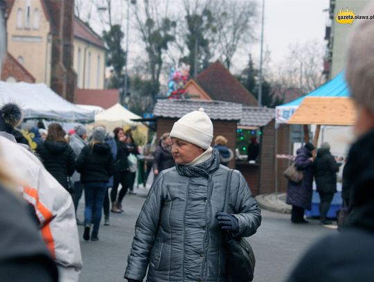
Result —
<path fill-rule="evenodd" d="M 243 107 L 238 126 L 265 126 L 275 118 L 275 109 L 266 107 Z"/>

